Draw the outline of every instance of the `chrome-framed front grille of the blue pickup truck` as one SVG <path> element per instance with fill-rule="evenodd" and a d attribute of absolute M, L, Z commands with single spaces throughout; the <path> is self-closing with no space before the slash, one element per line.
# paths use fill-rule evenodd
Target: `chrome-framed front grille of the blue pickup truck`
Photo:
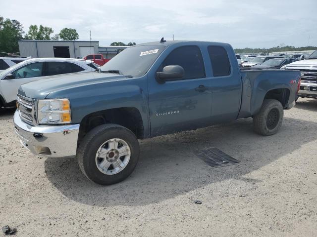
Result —
<path fill-rule="evenodd" d="M 34 102 L 33 99 L 18 95 L 17 99 L 20 118 L 27 123 L 34 123 Z"/>

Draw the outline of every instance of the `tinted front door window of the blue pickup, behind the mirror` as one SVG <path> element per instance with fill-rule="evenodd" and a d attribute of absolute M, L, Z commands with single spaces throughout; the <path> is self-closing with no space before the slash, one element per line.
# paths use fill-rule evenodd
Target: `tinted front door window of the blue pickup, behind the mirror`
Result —
<path fill-rule="evenodd" d="M 164 60 L 159 72 L 168 65 L 183 67 L 185 75 L 180 79 L 205 78 L 205 66 L 202 53 L 198 46 L 182 46 L 174 49 Z"/>

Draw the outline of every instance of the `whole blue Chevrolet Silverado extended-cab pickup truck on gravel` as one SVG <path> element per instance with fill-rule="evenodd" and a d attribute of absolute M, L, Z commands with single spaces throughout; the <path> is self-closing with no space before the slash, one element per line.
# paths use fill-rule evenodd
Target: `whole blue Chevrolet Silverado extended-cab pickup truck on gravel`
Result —
<path fill-rule="evenodd" d="M 92 181 L 109 185 L 134 170 L 138 139 L 253 118 L 275 134 L 295 105 L 300 72 L 240 71 L 227 43 L 165 41 L 129 47 L 101 72 L 20 86 L 15 132 L 46 157 L 76 156 Z"/>

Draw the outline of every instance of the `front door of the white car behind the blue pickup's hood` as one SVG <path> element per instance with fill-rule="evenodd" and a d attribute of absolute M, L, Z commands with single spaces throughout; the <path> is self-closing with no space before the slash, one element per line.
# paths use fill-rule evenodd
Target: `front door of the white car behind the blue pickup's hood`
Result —
<path fill-rule="evenodd" d="M 6 103 L 16 100 L 21 84 L 43 77 L 44 62 L 30 63 L 11 72 L 12 77 L 4 77 L 0 81 L 1 91 Z"/>

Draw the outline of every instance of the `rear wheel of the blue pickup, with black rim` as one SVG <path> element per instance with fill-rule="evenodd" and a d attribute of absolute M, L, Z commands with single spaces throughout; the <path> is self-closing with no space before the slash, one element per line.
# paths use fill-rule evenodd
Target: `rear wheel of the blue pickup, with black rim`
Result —
<path fill-rule="evenodd" d="M 281 102 L 264 99 L 260 112 L 253 117 L 253 129 L 263 136 L 275 134 L 281 127 L 284 110 Z"/>

